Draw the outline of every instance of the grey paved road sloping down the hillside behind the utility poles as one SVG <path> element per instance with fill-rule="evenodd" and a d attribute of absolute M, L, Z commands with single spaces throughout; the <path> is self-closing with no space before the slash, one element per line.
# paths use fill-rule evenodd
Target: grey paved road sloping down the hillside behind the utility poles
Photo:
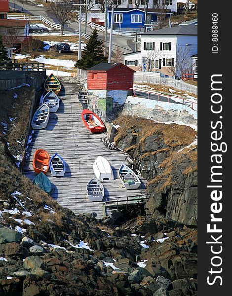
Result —
<path fill-rule="evenodd" d="M 22 3 L 20 3 L 18 0 L 9 0 L 9 5 L 12 8 L 15 7 L 19 11 L 22 10 Z M 44 18 L 48 19 L 49 21 L 59 24 L 59 22 L 57 21 L 55 16 L 51 12 L 49 12 L 47 10 L 47 8 L 45 8 L 45 7 L 40 7 L 40 6 L 34 5 L 32 3 L 25 3 L 23 12 L 30 13 L 33 15 L 42 15 Z M 85 25 L 81 24 L 81 31 L 82 32 L 84 32 L 84 28 L 85 28 Z M 75 32 L 75 30 L 78 30 L 78 21 L 71 22 L 68 25 L 66 25 L 64 33 Z M 87 34 L 91 35 L 91 33 L 92 33 L 92 29 L 89 26 L 87 26 Z M 98 36 L 101 40 L 105 39 L 104 32 L 98 31 Z M 107 39 L 109 42 L 109 40 L 110 40 L 109 34 L 107 34 Z M 117 46 L 120 46 L 118 48 L 120 48 L 122 54 L 133 52 L 135 49 L 135 43 L 132 41 L 132 39 L 133 39 L 133 37 L 114 35 L 113 36 L 113 46 L 112 46 L 113 51 L 116 51 Z M 108 43 L 108 45 L 109 45 L 109 43 Z M 139 50 L 139 48 L 138 48 L 138 50 Z M 122 59 L 123 59 L 123 57 L 122 57 Z"/>

